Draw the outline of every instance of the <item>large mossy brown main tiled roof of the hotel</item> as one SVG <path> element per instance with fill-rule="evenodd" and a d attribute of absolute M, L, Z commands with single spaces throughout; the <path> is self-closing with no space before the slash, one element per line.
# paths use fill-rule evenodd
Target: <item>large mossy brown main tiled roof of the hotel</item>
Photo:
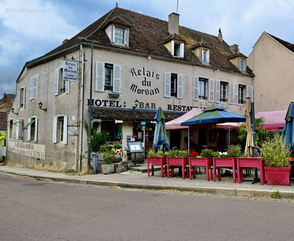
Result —
<path fill-rule="evenodd" d="M 129 47 L 112 45 L 103 28 L 110 20 L 118 19 L 118 17 L 120 17 L 122 21 L 132 25 L 129 31 Z M 173 57 L 163 45 L 164 40 L 170 37 L 167 21 L 123 8 L 113 8 L 80 33 L 69 39 L 69 41 L 40 58 L 57 53 L 81 42 L 81 40 L 77 38 L 78 36 L 85 37 L 95 44 L 112 48 L 178 59 Z M 199 61 L 190 49 L 193 45 L 200 43 L 201 38 L 203 38 L 204 44 L 210 49 L 211 66 L 240 73 L 238 68 L 228 61 L 227 57 L 231 54 L 230 46 L 225 41 L 220 42 L 217 36 L 179 26 L 179 37 L 185 40 L 183 60 L 201 64 L 201 61 Z"/>

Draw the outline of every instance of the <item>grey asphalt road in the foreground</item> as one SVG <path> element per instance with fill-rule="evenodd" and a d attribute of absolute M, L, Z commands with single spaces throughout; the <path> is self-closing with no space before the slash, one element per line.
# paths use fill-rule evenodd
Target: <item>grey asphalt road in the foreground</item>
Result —
<path fill-rule="evenodd" d="M 293 240 L 289 202 L 52 183 L 0 174 L 0 240 Z"/>

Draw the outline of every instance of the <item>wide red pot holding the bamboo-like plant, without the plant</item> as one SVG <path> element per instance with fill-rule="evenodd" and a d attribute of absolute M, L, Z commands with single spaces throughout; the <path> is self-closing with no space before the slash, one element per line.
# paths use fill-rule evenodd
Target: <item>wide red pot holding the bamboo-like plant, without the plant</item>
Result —
<path fill-rule="evenodd" d="M 268 185 L 290 186 L 291 167 L 265 167 Z"/>

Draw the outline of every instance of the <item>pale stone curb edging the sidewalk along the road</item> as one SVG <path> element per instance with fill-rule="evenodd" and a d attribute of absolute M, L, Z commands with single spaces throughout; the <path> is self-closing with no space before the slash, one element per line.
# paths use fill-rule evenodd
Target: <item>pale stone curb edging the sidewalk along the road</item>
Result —
<path fill-rule="evenodd" d="M 274 194 L 277 190 L 254 190 L 254 189 L 240 189 L 240 188 L 225 188 L 225 187 L 198 187 L 198 186 L 176 186 L 176 185 L 160 185 L 160 184 L 144 184 L 144 183 L 123 183 L 123 182 L 108 182 L 108 181 L 99 181 L 99 180 L 87 180 L 87 179 L 78 179 L 78 178 L 65 178 L 65 177 L 46 177 L 46 176 L 37 176 L 37 175 L 27 175 L 27 174 L 18 174 L 14 172 L 6 171 L 6 173 L 28 176 L 32 178 L 50 178 L 57 182 L 67 182 L 75 184 L 87 184 L 94 186 L 119 186 L 124 188 L 135 188 L 135 189 L 176 189 L 183 191 L 193 191 L 203 194 L 222 194 L 222 195 L 231 195 L 231 196 L 268 196 Z M 294 192 L 289 191 L 279 191 L 280 198 L 290 199 L 294 196 Z"/>

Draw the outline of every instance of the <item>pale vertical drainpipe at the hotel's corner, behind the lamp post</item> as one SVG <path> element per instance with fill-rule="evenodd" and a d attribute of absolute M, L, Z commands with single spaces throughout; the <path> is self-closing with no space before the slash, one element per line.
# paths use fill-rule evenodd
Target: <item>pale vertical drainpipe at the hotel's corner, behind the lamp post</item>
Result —
<path fill-rule="evenodd" d="M 80 50 L 81 50 L 81 56 L 82 56 L 82 67 L 81 67 L 81 103 L 80 103 L 80 134 L 79 134 L 79 157 L 80 157 L 80 163 L 76 163 L 75 165 L 75 171 L 77 171 L 77 168 L 79 166 L 79 171 L 82 170 L 82 147 L 83 147 L 83 107 L 84 107 L 84 51 L 83 51 L 83 45 L 80 45 Z M 77 159 L 76 159 L 77 160 Z"/>

